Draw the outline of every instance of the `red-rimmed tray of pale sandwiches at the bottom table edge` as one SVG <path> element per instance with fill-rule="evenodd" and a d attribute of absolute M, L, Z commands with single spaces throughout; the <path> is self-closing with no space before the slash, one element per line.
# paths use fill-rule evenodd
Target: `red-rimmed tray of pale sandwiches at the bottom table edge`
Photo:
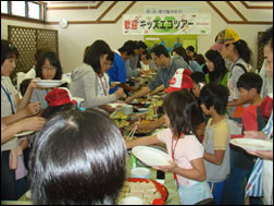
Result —
<path fill-rule="evenodd" d="M 166 201 L 169 193 L 164 185 L 150 179 L 128 178 L 117 197 L 117 203 L 127 197 L 136 196 L 142 199 L 144 205 L 152 205 L 153 199 Z"/>

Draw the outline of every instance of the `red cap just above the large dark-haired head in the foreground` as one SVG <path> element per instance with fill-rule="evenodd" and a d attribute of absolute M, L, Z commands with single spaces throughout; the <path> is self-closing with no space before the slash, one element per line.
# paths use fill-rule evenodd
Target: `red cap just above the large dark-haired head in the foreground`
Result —
<path fill-rule="evenodd" d="M 61 106 L 68 102 L 77 105 L 77 101 L 73 100 L 67 88 L 54 88 L 48 95 L 46 95 L 45 99 L 48 101 L 49 106 Z"/>

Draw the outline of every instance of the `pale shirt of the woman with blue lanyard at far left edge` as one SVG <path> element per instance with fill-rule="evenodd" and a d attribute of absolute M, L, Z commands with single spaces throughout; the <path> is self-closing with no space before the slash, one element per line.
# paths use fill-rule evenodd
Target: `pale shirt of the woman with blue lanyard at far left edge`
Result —
<path fill-rule="evenodd" d="M 18 95 L 18 92 L 14 88 L 10 76 L 1 76 L 1 118 L 5 118 L 12 114 L 11 104 L 3 89 L 5 89 L 5 92 L 10 95 L 14 113 L 16 113 L 16 108 L 17 108 L 15 96 Z M 1 150 L 2 152 L 10 150 L 15 147 L 17 147 L 17 137 L 12 138 L 8 141 L 7 143 L 2 144 Z"/>

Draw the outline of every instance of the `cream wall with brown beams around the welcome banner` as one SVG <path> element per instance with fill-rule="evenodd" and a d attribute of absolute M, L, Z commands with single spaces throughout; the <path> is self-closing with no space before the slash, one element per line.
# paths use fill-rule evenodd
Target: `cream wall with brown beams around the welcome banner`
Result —
<path fill-rule="evenodd" d="M 98 10 L 49 10 L 47 12 L 48 22 L 59 22 L 64 17 L 70 21 L 95 21 L 112 2 L 104 1 Z M 119 1 L 103 21 L 114 20 L 130 2 Z M 247 10 L 240 2 L 233 2 L 250 21 L 272 22 L 273 10 Z M 229 21 L 240 21 L 240 17 L 227 5 L 226 2 L 214 2 L 214 4 L 226 15 Z M 211 13 L 212 34 L 198 36 L 198 52 L 204 53 L 214 44 L 216 34 L 231 27 L 235 29 L 241 39 L 245 39 L 253 51 L 254 63 L 257 65 L 257 41 L 258 32 L 264 32 L 271 25 L 246 25 L 226 24 L 219 14 L 205 1 L 137 1 L 127 13 L 144 13 L 145 7 L 185 7 L 190 5 L 199 9 L 201 13 Z M 97 39 L 105 40 L 112 49 L 120 48 L 128 39 L 144 40 L 141 35 L 122 35 L 122 19 L 116 24 L 68 24 L 66 28 L 59 25 L 40 25 L 17 21 L 1 21 L 1 38 L 8 38 L 8 25 L 39 27 L 59 31 L 59 54 L 64 72 L 75 69 L 83 60 L 84 48 Z"/>

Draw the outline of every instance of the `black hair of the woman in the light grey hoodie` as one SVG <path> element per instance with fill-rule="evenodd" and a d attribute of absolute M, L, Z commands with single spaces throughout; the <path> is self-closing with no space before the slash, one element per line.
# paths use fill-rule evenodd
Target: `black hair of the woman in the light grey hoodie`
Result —
<path fill-rule="evenodd" d="M 100 58 L 108 54 L 107 60 L 113 62 L 114 53 L 110 46 L 103 40 L 96 40 L 90 45 L 87 54 L 84 58 L 84 62 L 91 65 L 96 73 L 101 72 Z"/>

